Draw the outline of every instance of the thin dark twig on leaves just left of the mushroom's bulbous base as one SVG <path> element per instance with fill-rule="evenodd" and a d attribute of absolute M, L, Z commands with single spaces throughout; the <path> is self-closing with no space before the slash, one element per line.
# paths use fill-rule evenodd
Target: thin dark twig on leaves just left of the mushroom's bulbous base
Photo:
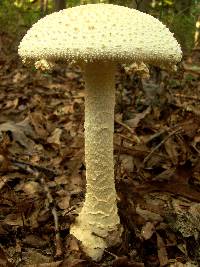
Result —
<path fill-rule="evenodd" d="M 51 192 L 45 182 L 45 179 L 43 177 L 41 177 L 41 182 L 44 186 L 44 190 L 46 192 L 46 196 L 48 199 L 48 204 L 49 204 L 49 208 L 51 208 L 51 213 L 53 215 L 54 218 L 54 225 L 55 225 L 55 243 L 56 243 L 56 257 L 60 257 L 62 255 L 62 244 L 61 244 L 61 239 L 60 239 L 60 232 L 59 232 L 59 222 L 58 222 L 58 215 L 57 215 L 57 211 L 56 211 L 56 207 L 54 204 L 54 199 L 51 196 Z"/>

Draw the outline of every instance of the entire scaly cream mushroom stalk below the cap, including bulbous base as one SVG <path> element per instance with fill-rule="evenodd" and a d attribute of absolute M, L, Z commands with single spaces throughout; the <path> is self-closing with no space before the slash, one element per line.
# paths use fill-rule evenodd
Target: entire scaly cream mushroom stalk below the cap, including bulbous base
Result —
<path fill-rule="evenodd" d="M 87 187 L 83 208 L 70 232 L 96 261 L 121 236 L 113 162 L 115 71 L 116 66 L 107 63 L 84 68 Z"/>

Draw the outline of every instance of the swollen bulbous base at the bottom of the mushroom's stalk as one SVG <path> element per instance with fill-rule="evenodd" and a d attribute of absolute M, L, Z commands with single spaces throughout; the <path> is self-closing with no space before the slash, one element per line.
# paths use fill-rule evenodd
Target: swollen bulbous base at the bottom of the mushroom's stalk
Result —
<path fill-rule="evenodd" d="M 80 217 L 80 215 L 79 215 Z M 94 227 L 86 223 L 87 218 L 78 218 L 72 225 L 70 234 L 74 235 L 82 243 L 83 251 L 94 261 L 102 258 L 107 247 L 120 243 L 122 227 L 118 224 L 108 229 Z"/>

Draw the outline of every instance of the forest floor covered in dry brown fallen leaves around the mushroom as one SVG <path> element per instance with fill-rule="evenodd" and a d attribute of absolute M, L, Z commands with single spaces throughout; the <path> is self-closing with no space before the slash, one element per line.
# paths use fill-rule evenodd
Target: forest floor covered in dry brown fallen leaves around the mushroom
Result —
<path fill-rule="evenodd" d="M 116 76 L 122 243 L 95 263 L 69 235 L 85 195 L 78 68 L 24 67 L 0 35 L 0 266 L 200 266 L 200 51 L 178 72 Z"/>

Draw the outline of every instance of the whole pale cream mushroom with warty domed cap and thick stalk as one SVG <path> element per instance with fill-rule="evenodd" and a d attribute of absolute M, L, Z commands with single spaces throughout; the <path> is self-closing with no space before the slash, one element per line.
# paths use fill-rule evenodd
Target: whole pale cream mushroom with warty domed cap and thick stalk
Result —
<path fill-rule="evenodd" d="M 42 69 L 64 62 L 78 64 L 84 73 L 87 186 L 70 233 L 86 254 L 100 260 L 122 233 L 113 162 L 117 64 L 172 68 L 181 60 L 181 48 L 166 26 L 150 15 L 112 4 L 88 4 L 40 19 L 21 41 L 19 55 Z"/>

